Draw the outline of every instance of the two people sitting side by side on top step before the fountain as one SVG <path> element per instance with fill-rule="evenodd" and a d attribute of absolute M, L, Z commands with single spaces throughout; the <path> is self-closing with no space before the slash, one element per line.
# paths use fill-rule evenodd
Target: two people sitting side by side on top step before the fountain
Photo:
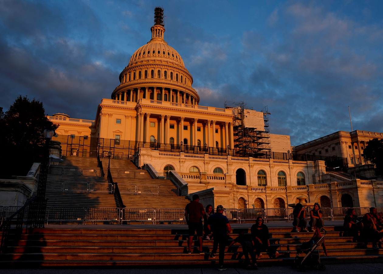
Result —
<path fill-rule="evenodd" d="M 314 203 L 313 209 L 310 210 L 309 230 L 307 229 L 306 208 L 304 208 L 301 203 L 295 205 L 293 215 L 293 231 L 291 232 L 299 232 L 298 228 L 301 228 L 301 232 L 314 232 L 314 227 L 319 229 L 324 227 L 324 220 L 322 219 L 322 211 L 319 203 Z"/>

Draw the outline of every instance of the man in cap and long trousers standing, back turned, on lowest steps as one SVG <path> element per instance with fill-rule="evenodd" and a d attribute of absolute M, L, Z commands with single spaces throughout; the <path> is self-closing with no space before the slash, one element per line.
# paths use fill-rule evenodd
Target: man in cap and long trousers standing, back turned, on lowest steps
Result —
<path fill-rule="evenodd" d="M 213 231 L 214 238 L 213 250 L 211 251 L 212 258 L 215 258 L 219 246 L 218 270 L 226 270 L 226 267 L 223 266 L 223 260 L 225 257 L 225 248 L 228 241 L 228 235 L 231 232 L 229 220 L 226 216 L 223 216 L 223 211 L 223 206 L 217 206 L 216 213 L 211 215 L 208 220 L 208 229 Z"/>

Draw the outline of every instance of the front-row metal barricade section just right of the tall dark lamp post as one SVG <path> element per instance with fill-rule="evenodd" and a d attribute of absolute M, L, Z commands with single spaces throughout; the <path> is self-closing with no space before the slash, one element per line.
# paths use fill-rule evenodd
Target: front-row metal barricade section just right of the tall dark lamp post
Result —
<path fill-rule="evenodd" d="M 49 221 L 79 222 L 84 224 L 86 208 L 83 207 L 60 207 L 52 206 L 47 208 L 47 224 Z"/>

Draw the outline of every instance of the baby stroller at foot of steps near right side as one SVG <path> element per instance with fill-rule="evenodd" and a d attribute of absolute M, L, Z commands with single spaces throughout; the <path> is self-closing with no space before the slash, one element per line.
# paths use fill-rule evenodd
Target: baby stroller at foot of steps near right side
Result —
<path fill-rule="evenodd" d="M 300 271 L 304 271 L 305 266 L 318 267 L 319 270 L 326 269 L 326 266 L 321 264 L 321 257 L 319 255 L 319 246 L 322 245 L 324 254 L 327 256 L 326 246 L 324 245 L 326 230 L 322 229 L 322 231 L 324 231 L 323 235 L 321 235 L 320 229 L 317 228 L 310 241 L 304 241 L 301 247 L 296 250 L 293 268 L 299 267 Z M 306 254 L 306 256 L 299 257 L 302 253 Z"/>

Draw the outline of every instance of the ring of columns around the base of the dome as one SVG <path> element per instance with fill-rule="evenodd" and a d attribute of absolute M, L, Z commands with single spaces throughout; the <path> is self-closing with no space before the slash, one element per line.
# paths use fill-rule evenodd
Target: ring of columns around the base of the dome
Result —
<path fill-rule="evenodd" d="M 155 91 L 155 92 L 154 92 Z M 153 92 L 153 97 L 150 98 L 150 93 Z M 157 97 L 160 94 L 160 97 Z M 166 98 L 165 98 L 166 95 Z M 165 87 L 138 87 L 120 91 L 115 95 L 117 101 L 138 102 L 139 99 L 153 99 L 155 101 L 167 101 L 173 103 L 183 103 L 188 105 L 198 105 L 198 100 L 192 94 L 178 89 Z"/>

